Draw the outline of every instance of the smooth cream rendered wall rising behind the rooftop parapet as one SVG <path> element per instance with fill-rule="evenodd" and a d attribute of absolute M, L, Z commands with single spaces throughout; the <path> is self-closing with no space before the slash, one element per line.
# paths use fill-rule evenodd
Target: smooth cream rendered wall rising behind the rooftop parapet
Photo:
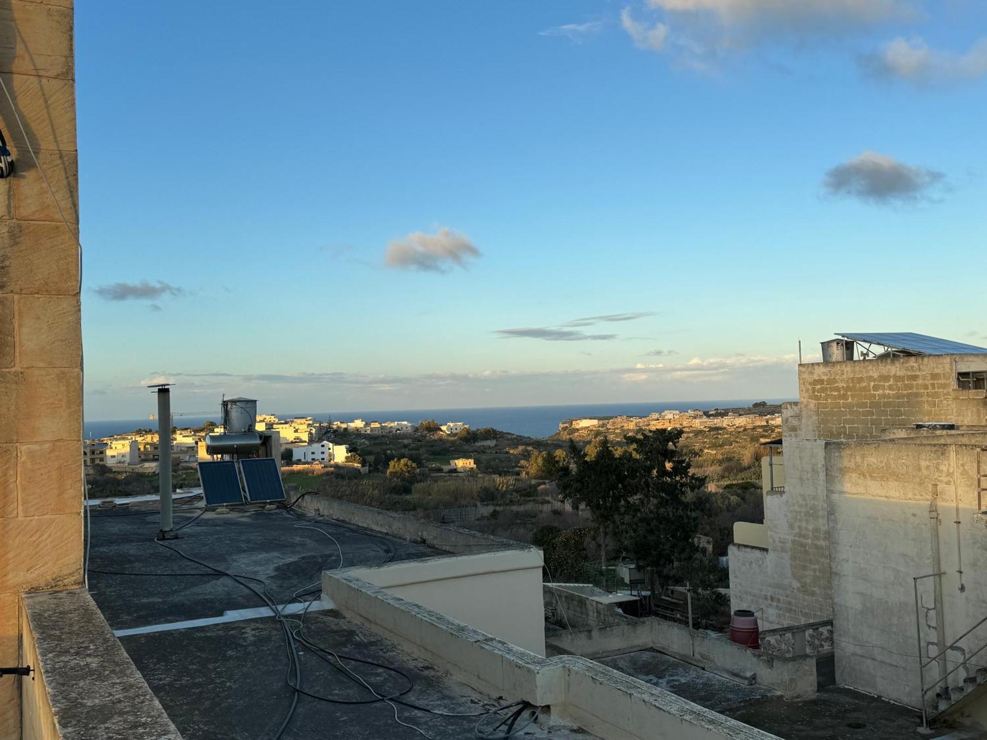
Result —
<path fill-rule="evenodd" d="M 538 550 L 430 557 L 348 572 L 395 596 L 545 655 Z"/>

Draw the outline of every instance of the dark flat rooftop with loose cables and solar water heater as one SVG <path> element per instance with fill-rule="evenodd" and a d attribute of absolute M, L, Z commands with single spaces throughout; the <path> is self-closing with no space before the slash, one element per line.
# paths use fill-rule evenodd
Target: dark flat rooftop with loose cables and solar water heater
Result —
<path fill-rule="evenodd" d="M 168 546 L 212 567 L 263 581 L 247 582 L 266 588 L 277 605 L 298 597 L 298 613 L 291 617 L 304 619 L 305 636 L 348 656 L 345 666 L 378 694 L 390 697 L 411 684 L 402 701 L 472 715 L 440 715 L 382 702 L 333 661 L 298 644 L 302 688 L 335 702 L 299 696 L 283 738 L 472 737 L 477 715 L 503 703 L 319 600 L 321 574 L 340 566 L 341 551 L 343 567 L 444 555 L 442 551 L 283 508 L 245 506 L 217 514 L 203 513 L 201 504 L 176 506 L 176 527 L 198 518 Z M 284 632 L 262 599 L 234 579 L 156 543 L 155 502 L 91 513 L 90 593 L 183 737 L 275 737 L 294 691 L 285 682 Z M 299 603 L 309 601 L 308 611 L 301 614 Z M 395 720 L 396 712 L 405 724 Z M 490 719 L 485 726 L 496 723 Z M 546 730 L 537 724 L 520 736 L 547 734 L 591 737 L 564 725 Z"/>

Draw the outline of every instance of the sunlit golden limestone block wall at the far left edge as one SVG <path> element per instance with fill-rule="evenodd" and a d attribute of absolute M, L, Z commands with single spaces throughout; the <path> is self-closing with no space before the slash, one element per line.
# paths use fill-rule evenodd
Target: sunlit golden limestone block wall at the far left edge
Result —
<path fill-rule="evenodd" d="M 72 0 L 0 0 L 0 664 L 21 659 L 19 599 L 82 580 L 79 256 L 17 123 L 77 229 Z M 20 738 L 20 680 L 0 681 L 0 738 Z"/>

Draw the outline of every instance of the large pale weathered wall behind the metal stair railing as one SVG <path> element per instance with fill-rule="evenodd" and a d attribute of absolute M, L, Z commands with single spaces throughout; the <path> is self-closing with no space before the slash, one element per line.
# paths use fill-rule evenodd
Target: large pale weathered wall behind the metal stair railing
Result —
<path fill-rule="evenodd" d="M 987 522 L 977 507 L 978 455 L 978 445 L 827 444 L 838 683 L 918 706 L 916 576 L 934 573 L 937 567 L 945 571 L 945 642 L 936 633 L 933 579 L 919 582 L 923 656 L 935 655 L 940 644 L 949 644 L 987 617 Z M 934 499 L 938 520 L 930 517 Z M 934 536 L 939 539 L 938 566 Z M 949 652 L 949 668 L 964 651 L 985 643 L 987 625 Z M 974 662 L 983 664 L 983 654 Z M 958 673 L 950 686 L 966 675 Z M 934 667 L 927 669 L 928 680 L 936 675 Z"/>

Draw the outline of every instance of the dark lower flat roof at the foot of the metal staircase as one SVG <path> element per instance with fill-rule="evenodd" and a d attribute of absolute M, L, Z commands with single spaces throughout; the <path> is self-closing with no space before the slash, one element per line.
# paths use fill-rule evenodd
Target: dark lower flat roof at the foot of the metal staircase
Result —
<path fill-rule="evenodd" d="M 786 701 L 763 686 L 745 686 L 655 650 L 598 662 L 744 724 L 787 740 L 904 740 L 953 738 L 951 729 L 917 732 L 921 715 L 901 704 L 845 687 L 820 689 L 812 699 Z M 987 733 L 965 732 L 970 740 Z"/>

